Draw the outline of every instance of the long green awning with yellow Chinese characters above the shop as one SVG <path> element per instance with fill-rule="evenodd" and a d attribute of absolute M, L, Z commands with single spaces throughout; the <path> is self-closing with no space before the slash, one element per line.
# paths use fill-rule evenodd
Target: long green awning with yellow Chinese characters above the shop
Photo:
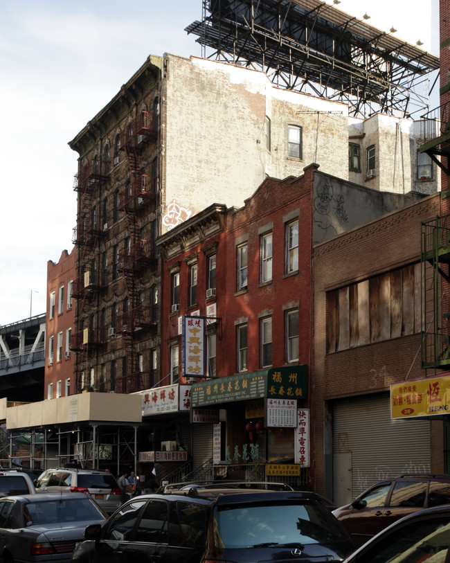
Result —
<path fill-rule="evenodd" d="M 283 366 L 192 384 L 192 407 L 260 398 L 307 398 L 307 365 Z"/>

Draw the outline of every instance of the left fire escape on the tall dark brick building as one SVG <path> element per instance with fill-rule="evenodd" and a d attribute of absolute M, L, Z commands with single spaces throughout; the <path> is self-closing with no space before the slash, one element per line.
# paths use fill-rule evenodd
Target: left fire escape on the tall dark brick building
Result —
<path fill-rule="evenodd" d="M 95 297 L 105 287 L 98 270 L 96 249 L 107 231 L 96 202 L 100 188 L 109 181 L 103 174 L 102 162 L 97 157 L 87 162 L 75 175 L 74 190 L 78 192 L 78 220 L 73 229 L 73 244 L 78 247 L 77 277 L 73 280 L 72 296 L 77 301 L 77 328 L 71 334 L 70 349 L 78 352 L 75 363 L 78 391 L 89 387 L 82 381 L 84 361 L 105 343 L 104 334 L 93 314 Z"/>

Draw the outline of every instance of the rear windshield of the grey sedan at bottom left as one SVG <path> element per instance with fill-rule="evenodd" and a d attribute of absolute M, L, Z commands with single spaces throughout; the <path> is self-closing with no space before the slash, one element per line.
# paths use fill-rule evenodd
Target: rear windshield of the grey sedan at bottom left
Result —
<path fill-rule="evenodd" d="M 101 520 L 102 513 L 89 499 L 58 499 L 52 501 L 28 502 L 24 505 L 24 524 L 54 524 Z"/>

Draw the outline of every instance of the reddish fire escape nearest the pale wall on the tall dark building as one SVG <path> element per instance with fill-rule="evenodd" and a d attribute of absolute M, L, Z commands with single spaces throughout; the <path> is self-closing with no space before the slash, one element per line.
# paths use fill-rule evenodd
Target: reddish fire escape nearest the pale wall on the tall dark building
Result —
<path fill-rule="evenodd" d="M 122 272 L 127 292 L 127 310 L 117 319 L 117 332 L 122 335 L 127 361 L 127 375 L 117 380 L 118 393 L 132 393 L 145 388 L 138 354 L 136 337 L 143 328 L 156 325 L 151 307 L 144 307 L 138 292 L 138 279 L 147 268 L 156 267 L 154 240 L 145 240 L 139 220 L 156 203 L 156 177 L 142 173 L 142 151 L 158 135 L 157 115 L 141 111 L 120 134 L 120 150 L 125 152 L 130 183 L 119 194 L 119 209 L 125 213 L 129 236 L 118 256 L 118 271 Z"/>

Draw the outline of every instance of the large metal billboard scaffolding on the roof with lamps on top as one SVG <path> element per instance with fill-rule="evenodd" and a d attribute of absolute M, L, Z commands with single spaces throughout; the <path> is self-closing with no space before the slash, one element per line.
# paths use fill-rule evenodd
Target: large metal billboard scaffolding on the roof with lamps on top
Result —
<path fill-rule="evenodd" d="M 347 102 L 350 114 L 428 107 L 439 58 L 321 0 L 203 0 L 206 57 L 262 70 L 278 87 Z"/>

